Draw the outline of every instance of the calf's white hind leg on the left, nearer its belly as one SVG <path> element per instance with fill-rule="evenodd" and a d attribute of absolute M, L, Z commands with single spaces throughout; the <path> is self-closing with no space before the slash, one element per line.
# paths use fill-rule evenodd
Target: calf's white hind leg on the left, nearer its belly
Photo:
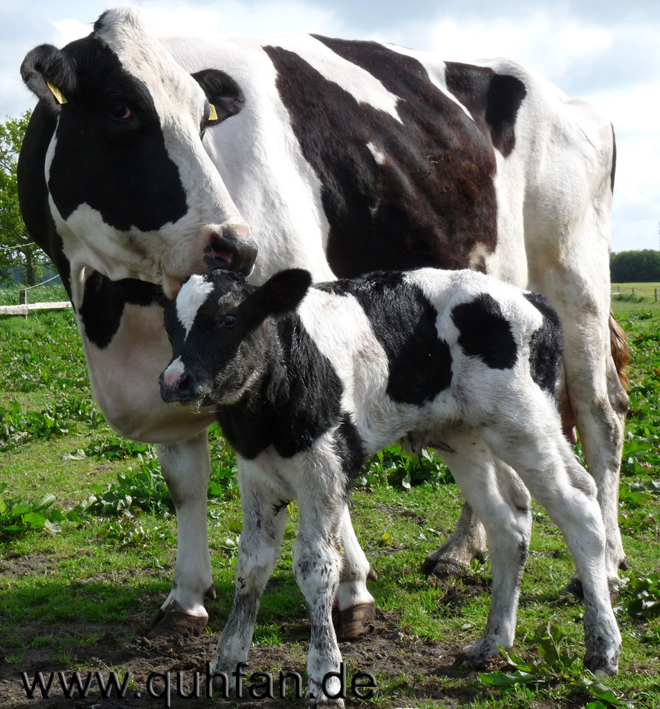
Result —
<path fill-rule="evenodd" d="M 482 437 L 457 427 L 443 434 L 455 451 L 438 454 L 450 467 L 466 500 L 483 520 L 490 546 L 492 601 L 486 630 L 463 657 L 475 666 L 511 647 L 516 636 L 520 579 L 531 531 L 530 496 L 516 473 L 494 457 Z"/>

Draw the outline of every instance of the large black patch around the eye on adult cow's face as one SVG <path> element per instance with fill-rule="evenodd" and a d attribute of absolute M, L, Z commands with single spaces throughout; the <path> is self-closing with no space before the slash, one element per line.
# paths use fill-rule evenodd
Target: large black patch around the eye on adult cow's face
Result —
<path fill-rule="evenodd" d="M 48 182 L 62 217 L 87 203 L 118 230 L 155 231 L 185 216 L 186 194 L 147 86 L 93 35 L 60 55 L 76 69 L 59 111 Z M 119 117 L 122 107 L 129 118 Z"/>

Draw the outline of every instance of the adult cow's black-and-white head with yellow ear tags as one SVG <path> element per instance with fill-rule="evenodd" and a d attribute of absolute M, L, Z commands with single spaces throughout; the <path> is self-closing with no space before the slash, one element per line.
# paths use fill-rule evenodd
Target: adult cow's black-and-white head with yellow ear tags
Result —
<path fill-rule="evenodd" d="M 62 50 L 35 48 L 21 74 L 57 118 L 45 177 L 72 268 L 169 296 L 208 259 L 251 271 L 256 245 L 202 145 L 241 109 L 230 77 L 191 77 L 131 8 L 107 11 Z"/>

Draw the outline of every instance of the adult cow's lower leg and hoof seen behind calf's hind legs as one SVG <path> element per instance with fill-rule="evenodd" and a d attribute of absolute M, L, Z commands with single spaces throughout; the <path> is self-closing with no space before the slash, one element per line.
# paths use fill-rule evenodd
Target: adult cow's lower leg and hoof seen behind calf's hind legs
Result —
<path fill-rule="evenodd" d="M 460 574 L 469 567 L 472 559 L 484 562 L 488 556 L 486 530 L 469 503 L 465 503 L 449 539 L 435 552 L 426 557 L 421 571 L 427 576 L 447 576 Z"/>

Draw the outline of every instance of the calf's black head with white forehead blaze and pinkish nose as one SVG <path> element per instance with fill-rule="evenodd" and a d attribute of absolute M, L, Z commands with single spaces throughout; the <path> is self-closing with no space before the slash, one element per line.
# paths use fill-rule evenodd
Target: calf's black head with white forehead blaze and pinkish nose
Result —
<path fill-rule="evenodd" d="M 163 400 L 237 402 L 279 362 L 264 321 L 294 310 L 311 282 L 299 269 L 281 271 L 259 288 L 227 271 L 190 277 L 165 310 L 172 359 L 159 379 Z"/>

